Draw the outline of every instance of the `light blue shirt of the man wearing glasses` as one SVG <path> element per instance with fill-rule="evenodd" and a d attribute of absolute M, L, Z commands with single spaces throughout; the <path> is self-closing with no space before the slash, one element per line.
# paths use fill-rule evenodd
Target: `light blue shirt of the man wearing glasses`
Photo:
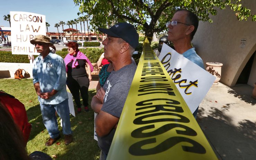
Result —
<path fill-rule="evenodd" d="M 202 69 L 204 69 L 203 66 L 203 60 L 201 59 L 201 57 L 198 56 L 198 54 L 196 54 L 195 52 L 195 48 L 191 48 L 187 51 L 185 51 L 184 53 L 182 53 L 182 55 L 189 59 L 190 61 L 194 62 L 195 64 L 197 64 L 199 67 L 201 67 Z"/>

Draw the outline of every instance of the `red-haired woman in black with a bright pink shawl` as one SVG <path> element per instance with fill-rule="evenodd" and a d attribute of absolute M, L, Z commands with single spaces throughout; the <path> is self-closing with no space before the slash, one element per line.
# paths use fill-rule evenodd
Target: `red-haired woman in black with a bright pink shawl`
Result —
<path fill-rule="evenodd" d="M 67 47 L 68 54 L 64 58 L 67 72 L 67 87 L 75 99 L 77 112 L 81 112 L 79 91 L 83 99 L 84 109 L 88 112 L 88 88 L 92 80 L 91 72 L 93 71 L 93 66 L 84 53 L 80 52 L 76 42 L 68 42 Z M 85 66 L 88 68 L 88 73 Z"/>

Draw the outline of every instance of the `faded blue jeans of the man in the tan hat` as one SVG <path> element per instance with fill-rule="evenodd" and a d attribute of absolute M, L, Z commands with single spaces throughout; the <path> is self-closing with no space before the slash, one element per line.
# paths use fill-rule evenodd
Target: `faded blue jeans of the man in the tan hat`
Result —
<path fill-rule="evenodd" d="M 42 104 L 40 103 L 40 108 L 42 111 L 42 117 L 44 125 L 51 138 L 57 138 L 60 131 L 58 130 L 57 118 L 55 116 L 55 111 L 62 119 L 62 131 L 63 134 L 72 134 L 68 99 L 64 100 L 59 104 Z"/>

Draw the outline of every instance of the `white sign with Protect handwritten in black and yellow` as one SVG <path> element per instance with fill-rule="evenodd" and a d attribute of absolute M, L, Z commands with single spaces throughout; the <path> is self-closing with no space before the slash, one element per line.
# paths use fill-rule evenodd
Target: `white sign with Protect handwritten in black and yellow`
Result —
<path fill-rule="evenodd" d="M 193 113 L 211 88 L 216 77 L 165 43 L 158 59 L 162 62 Z"/>

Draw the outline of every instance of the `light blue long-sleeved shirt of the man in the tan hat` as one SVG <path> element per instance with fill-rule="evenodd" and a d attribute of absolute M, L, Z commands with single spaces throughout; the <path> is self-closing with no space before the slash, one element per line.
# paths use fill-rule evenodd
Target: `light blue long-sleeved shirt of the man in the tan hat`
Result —
<path fill-rule="evenodd" d="M 51 92 L 53 89 L 58 91 L 49 99 L 38 96 L 38 101 L 42 104 L 59 104 L 68 99 L 66 67 L 63 58 L 50 52 L 44 60 L 39 55 L 33 64 L 33 84 L 39 82 L 41 92 Z"/>

